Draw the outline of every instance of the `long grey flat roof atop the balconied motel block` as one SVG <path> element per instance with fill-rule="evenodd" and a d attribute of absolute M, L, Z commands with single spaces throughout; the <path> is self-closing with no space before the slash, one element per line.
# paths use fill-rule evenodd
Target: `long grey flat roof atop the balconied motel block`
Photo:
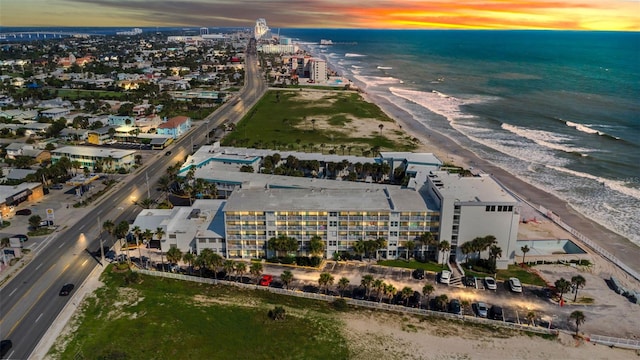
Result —
<path fill-rule="evenodd" d="M 429 211 L 416 191 L 398 189 L 239 189 L 224 211 Z"/>

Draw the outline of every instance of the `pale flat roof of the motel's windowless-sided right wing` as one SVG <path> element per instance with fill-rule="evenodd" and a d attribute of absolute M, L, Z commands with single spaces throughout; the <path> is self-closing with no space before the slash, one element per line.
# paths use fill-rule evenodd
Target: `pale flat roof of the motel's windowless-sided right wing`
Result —
<path fill-rule="evenodd" d="M 458 202 L 518 202 L 489 174 L 460 176 L 446 171 L 432 171 L 428 178 L 442 195 L 454 198 Z"/>

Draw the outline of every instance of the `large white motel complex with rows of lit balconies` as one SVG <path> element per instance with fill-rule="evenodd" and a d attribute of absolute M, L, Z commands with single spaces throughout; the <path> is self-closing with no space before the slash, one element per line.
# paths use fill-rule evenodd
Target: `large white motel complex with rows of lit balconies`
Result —
<path fill-rule="evenodd" d="M 429 232 L 436 241 L 451 244 L 450 251 L 439 254 L 442 259 L 462 262 L 462 243 L 493 235 L 503 254 L 497 267 L 504 269 L 514 260 L 520 205 L 488 174 L 450 174 L 439 170 L 442 163 L 433 154 L 412 153 L 406 153 L 404 160 L 401 153 L 388 153 L 388 158 L 384 153 L 375 159 L 353 157 L 404 163 L 415 178 L 422 179 L 405 187 L 239 172 L 246 165 L 260 168 L 259 159 L 267 153 L 274 152 L 201 147 L 187 158 L 181 174 L 194 167 L 196 178 L 226 189 L 227 198 L 196 200 L 178 210 L 144 210 L 134 226 L 154 232 L 163 228 L 165 235 L 158 244 L 163 252 L 178 247 L 197 254 L 209 248 L 225 258 L 274 256 L 267 250 L 268 240 L 285 235 L 298 241 L 300 254 L 308 254 L 309 241 L 320 237 L 327 258 L 353 251 L 359 240 L 384 238 L 387 245 L 376 255 L 395 259 L 407 255 L 408 241 Z M 282 159 L 315 156 L 320 173 L 329 158 L 354 160 L 339 155 L 279 154 Z M 424 250 L 435 251 L 435 247 Z"/>

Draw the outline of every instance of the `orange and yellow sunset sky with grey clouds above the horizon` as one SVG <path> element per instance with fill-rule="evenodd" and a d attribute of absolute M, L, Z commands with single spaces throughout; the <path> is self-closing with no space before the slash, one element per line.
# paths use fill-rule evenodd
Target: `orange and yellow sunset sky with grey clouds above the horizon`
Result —
<path fill-rule="evenodd" d="M 2 0 L 0 26 L 640 31 L 640 0 Z"/>

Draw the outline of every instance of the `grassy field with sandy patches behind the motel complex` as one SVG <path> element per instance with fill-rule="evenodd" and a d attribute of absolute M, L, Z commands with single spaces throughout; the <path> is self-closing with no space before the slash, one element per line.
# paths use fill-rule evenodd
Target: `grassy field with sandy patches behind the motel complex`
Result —
<path fill-rule="evenodd" d="M 378 132 L 379 124 L 394 124 L 375 104 L 354 92 L 313 92 L 317 99 L 303 99 L 301 91 L 269 91 L 222 141 L 226 146 L 317 151 L 362 155 L 374 147 L 410 151 L 416 146 L 399 134 Z M 307 91 L 305 93 L 311 94 Z M 368 134 L 354 136 L 354 119 L 373 122 Z M 383 129 L 384 130 L 384 129 Z"/>

